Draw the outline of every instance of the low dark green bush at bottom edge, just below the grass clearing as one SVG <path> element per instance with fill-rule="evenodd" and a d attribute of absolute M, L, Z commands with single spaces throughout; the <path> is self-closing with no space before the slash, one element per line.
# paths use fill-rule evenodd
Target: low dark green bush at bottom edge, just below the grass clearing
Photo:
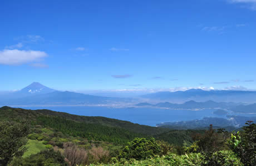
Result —
<path fill-rule="evenodd" d="M 12 162 L 13 166 L 61 166 L 68 164 L 65 162 L 64 157 L 60 152 L 55 152 L 53 149 L 42 151 L 38 154 L 30 155 L 27 158 L 16 158 Z"/>

